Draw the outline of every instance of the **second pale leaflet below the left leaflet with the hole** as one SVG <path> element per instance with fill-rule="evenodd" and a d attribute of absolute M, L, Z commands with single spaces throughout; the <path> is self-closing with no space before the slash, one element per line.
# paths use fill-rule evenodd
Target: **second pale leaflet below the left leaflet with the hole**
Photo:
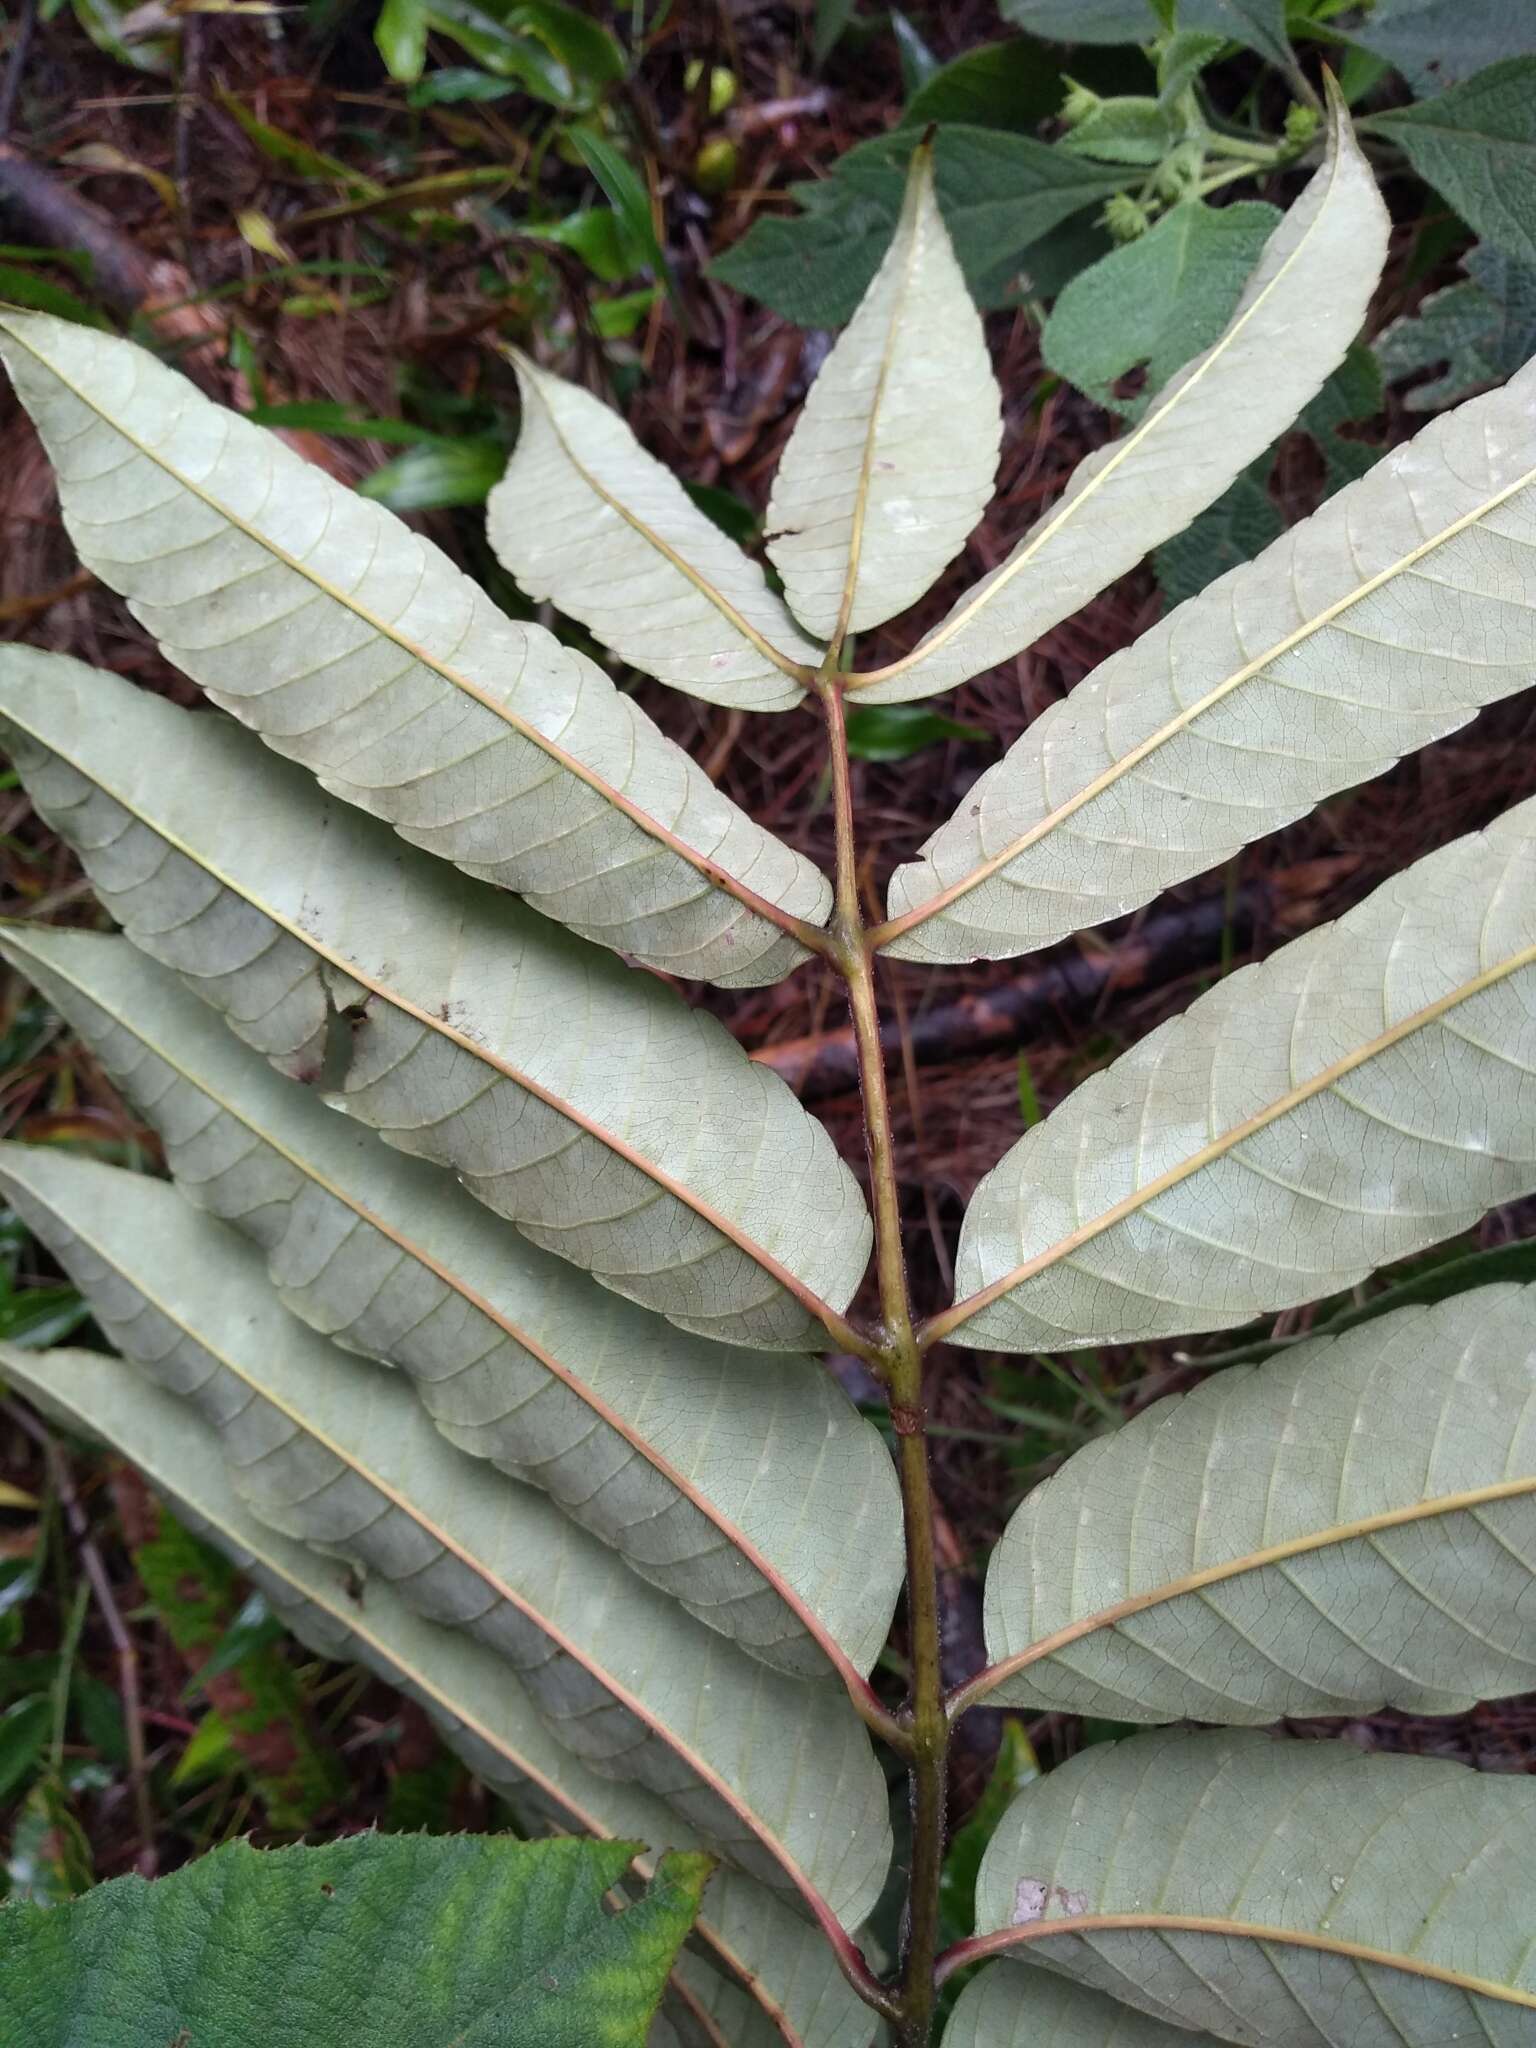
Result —
<path fill-rule="evenodd" d="M 567 1749 L 752 1876 L 864 1917 L 889 1860 L 885 1780 L 842 1688 L 743 1657 L 545 1495 L 465 1458 L 406 1382 L 297 1323 L 254 1247 L 164 1182 L 14 1145 L 0 1161 L 117 1348 L 217 1427 L 264 1522 L 485 1642 Z"/>

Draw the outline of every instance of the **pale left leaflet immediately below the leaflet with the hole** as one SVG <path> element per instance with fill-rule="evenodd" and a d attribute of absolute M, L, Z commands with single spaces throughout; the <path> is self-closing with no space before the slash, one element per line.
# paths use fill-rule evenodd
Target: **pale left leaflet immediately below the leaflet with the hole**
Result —
<path fill-rule="evenodd" d="M 125 940 L 12 926 L 0 950 L 156 1124 L 182 1194 L 262 1245 L 295 1315 L 401 1366 L 449 1442 L 768 1663 L 870 1669 L 901 1503 L 829 1374 L 657 1329 L 281 1079 Z"/>

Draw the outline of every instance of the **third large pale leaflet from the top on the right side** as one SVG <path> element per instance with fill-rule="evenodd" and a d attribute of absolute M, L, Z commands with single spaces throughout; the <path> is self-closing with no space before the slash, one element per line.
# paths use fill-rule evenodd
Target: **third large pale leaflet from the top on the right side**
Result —
<path fill-rule="evenodd" d="M 1298 1343 L 1087 1444 L 991 1556 L 987 1653 L 991 1704 L 1114 1720 L 1534 1690 L 1536 1288 Z"/>

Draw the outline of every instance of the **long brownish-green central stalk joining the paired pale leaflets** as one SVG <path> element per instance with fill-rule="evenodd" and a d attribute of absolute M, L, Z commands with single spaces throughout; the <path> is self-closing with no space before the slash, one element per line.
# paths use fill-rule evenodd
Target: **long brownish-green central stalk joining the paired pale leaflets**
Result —
<path fill-rule="evenodd" d="M 926 2048 L 938 1995 L 938 1901 L 944 1864 L 944 1802 L 948 1788 L 948 1716 L 940 1669 L 938 1563 L 934 1556 L 934 1491 L 928 1468 L 924 1413 L 924 1358 L 911 1319 L 907 1266 L 901 1249 L 901 1198 L 885 1087 L 881 1018 L 874 993 L 874 950 L 858 901 L 858 850 L 854 842 L 852 774 L 844 719 L 842 680 L 817 680 L 831 756 L 831 799 L 838 834 L 838 901 L 831 922 L 831 961 L 848 983 L 848 1008 L 858 1049 L 864 1098 L 864 1143 L 874 1210 L 874 1270 L 881 1290 L 881 1343 L 877 1372 L 891 1401 L 901 1477 L 901 1516 L 907 1542 L 907 1638 L 911 1700 L 907 1710 L 907 1767 L 911 1780 L 911 1880 L 901 1956 L 901 2048 Z"/>

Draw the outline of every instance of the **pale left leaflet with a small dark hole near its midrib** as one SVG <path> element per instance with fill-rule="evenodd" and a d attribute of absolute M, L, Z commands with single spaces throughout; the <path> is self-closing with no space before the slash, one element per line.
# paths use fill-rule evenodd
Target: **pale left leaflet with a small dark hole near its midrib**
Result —
<path fill-rule="evenodd" d="M 737 1343 L 805 1343 L 809 1303 L 852 1296 L 858 1186 L 715 1018 L 408 852 L 225 719 L 20 647 L 0 717 L 135 944 L 283 1071 L 319 1079 L 330 1049 L 354 1116 L 526 1237 Z"/>

